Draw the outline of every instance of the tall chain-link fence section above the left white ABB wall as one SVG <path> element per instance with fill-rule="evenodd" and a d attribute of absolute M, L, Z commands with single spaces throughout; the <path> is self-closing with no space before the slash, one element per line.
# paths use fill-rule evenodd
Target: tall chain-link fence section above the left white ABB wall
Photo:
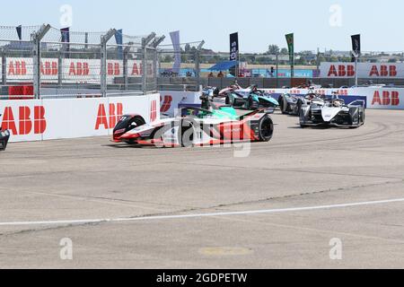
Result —
<path fill-rule="evenodd" d="M 69 31 L 66 40 L 61 30 L 49 25 L 21 27 L 20 34 L 15 27 L 0 27 L 0 97 L 80 98 L 155 92 L 158 57 L 157 49 L 150 46 L 153 39 L 154 33 L 134 37 L 109 30 Z"/>

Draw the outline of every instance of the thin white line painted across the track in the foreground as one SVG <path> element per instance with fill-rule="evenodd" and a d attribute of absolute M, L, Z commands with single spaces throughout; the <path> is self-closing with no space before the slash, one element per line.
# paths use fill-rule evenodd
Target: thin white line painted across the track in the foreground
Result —
<path fill-rule="evenodd" d="M 330 205 L 318 205 L 318 206 L 308 206 L 308 207 L 293 207 L 293 208 L 255 210 L 255 211 L 244 211 L 244 212 L 228 212 L 228 213 L 199 213 L 199 214 L 181 214 L 181 215 L 144 216 L 144 217 L 134 217 L 134 218 L 44 221 L 44 222 L 0 222 L 0 226 L 65 225 L 65 224 L 73 225 L 73 224 L 90 224 L 90 223 L 102 223 L 102 222 L 157 221 L 157 220 L 216 217 L 216 216 L 229 216 L 229 215 L 304 212 L 304 211 L 313 211 L 313 210 L 322 210 L 322 209 L 356 207 L 356 206 L 364 206 L 364 205 L 393 204 L 393 203 L 401 203 L 401 202 L 404 202 L 404 198 L 387 199 L 387 200 L 379 200 L 379 201 L 368 201 L 368 202 L 352 203 L 352 204 L 330 204 Z"/>

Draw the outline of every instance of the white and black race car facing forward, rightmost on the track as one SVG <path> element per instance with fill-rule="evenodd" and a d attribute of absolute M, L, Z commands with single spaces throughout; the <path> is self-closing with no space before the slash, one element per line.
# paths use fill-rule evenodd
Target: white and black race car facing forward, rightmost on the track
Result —
<path fill-rule="evenodd" d="M 364 125 L 364 100 L 355 100 L 349 105 L 338 99 L 315 99 L 302 107 L 300 126 L 339 126 L 356 128 Z"/>

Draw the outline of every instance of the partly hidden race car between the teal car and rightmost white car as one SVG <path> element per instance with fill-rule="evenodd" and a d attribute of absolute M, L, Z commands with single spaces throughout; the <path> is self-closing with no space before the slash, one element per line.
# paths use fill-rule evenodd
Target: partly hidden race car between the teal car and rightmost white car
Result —
<path fill-rule="evenodd" d="M 308 106 L 314 99 L 322 99 L 323 96 L 309 91 L 306 95 L 291 95 L 285 93 L 279 96 L 279 105 L 284 115 L 299 116 L 303 106 Z"/>

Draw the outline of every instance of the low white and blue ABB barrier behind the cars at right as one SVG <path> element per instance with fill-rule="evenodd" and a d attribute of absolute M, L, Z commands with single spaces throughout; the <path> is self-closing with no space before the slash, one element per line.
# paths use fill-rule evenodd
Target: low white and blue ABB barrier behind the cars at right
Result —
<path fill-rule="evenodd" d="M 283 93 L 305 95 L 308 89 L 268 89 L 275 98 Z M 368 109 L 404 109 L 404 89 L 402 88 L 352 88 L 352 89 L 317 89 L 314 92 L 331 96 L 333 92 L 347 104 L 354 100 L 365 100 Z"/>

